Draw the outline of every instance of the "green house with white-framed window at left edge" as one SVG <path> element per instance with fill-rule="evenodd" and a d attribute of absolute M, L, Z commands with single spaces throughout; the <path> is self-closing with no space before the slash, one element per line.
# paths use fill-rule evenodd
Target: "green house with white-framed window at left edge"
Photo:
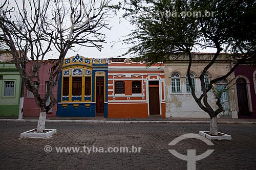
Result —
<path fill-rule="evenodd" d="M 0 116 L 18 116 L 22 79 L 9 53 L 0 54 Z"/>

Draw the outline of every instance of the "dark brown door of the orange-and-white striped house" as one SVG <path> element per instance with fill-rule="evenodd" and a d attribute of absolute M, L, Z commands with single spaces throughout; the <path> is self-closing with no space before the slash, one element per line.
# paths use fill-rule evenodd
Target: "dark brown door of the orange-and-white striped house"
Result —
<path fill-rule="evenodd" d="M 148 87 L 150 93 L 150 115 L 160 114 L 159 87 Z"/>

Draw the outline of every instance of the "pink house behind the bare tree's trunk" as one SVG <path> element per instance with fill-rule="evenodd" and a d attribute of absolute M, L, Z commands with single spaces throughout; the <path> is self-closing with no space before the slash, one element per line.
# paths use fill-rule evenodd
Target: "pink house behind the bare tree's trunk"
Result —
<path fill-rule="evenodd" d="M 47 83 L 49 80 L 50 69 L 52 65 L 57 60 L 44 60 L 41 68 L 39 69 L 39 78 L 40 78 L 40 86 L 38 93 L 41 95 L 41 98 L 45 95 L 47 90 Z M 26 70 L 28 74 L 32 73 L 33 63 L 29 61 L 26 65 Z M 37 78 L 34 78 L 34 83 L 37 84 Z M 53 89 L 53 93 L 55 98 L 57 99 L 57 85 Z M 56 116 L 57 105 L 55 105 L 50 112 L 48 112 L 47 116 Z M 26 86 L 24 87 L 24 107 L 23 107 L 23 115 L 24 116 L 39 116 L 40 110 L 36 105 L 34 95 L 30 92 Z"/>

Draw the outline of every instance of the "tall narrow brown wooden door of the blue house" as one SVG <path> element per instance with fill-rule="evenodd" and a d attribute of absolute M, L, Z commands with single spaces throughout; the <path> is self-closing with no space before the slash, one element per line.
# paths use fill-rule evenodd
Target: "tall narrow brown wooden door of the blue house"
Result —
<path fill-rule="evenodd" d="M 96 115 L 104 113 L 104 77 L 96 77 Z"/>

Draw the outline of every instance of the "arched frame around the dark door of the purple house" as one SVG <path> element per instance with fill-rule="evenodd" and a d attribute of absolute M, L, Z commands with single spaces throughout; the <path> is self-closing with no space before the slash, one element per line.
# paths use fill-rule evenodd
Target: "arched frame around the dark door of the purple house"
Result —
<path fill-rule="evenodd" d="M 243 75 L 239 75 L 234 79 L 234 95 L 236 98 L 236 109 L 239 112 L 239 107 L 238 107 L 238 93 L 237 93 L 237 79 L 239 78 L 244 78 L 246 81 L 246 90 L 247 90 L 247 100 L 248 100 L 248 109 L 249 112 L 252 112 L 252 105 L 251 105 L 251 90 L 250 90 L 250 81 L 248 80 L 247 77 L 243 76 Z M 238 115 L 239 116 L 239 115 Z"/>

